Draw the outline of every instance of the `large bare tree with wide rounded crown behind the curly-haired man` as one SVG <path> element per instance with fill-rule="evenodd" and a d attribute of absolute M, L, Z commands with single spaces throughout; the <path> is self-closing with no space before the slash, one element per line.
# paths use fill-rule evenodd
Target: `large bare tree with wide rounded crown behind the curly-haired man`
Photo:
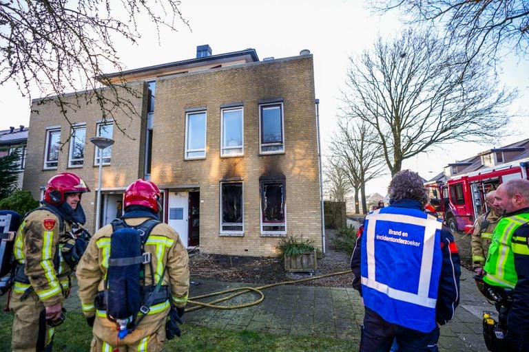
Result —
<path fill-rule="evenodd" d="M 346 112 L 376 131 L 391 175 L 439 144 L 501 135 L 515 92 L 498 87 L 479 61 L 463 72 L 460 56 L 431 32 L 407 30 L 349 58 Z"/>

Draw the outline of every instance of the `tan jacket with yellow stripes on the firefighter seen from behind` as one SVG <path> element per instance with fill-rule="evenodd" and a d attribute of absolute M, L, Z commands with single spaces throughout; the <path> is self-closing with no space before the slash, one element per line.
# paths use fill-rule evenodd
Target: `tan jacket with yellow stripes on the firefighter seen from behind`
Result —
<path fill-rule="evenodd" d="M 125 219 L 127 225 L 140 225 L 149 217 L 134 217 Z M 116 344 L 116 324 L 106 318 L 106 311 L 96 307 L 96 296 L 104 291 L 107 276 L 108 261 L 110 259 L 110 238 L 112 225 L 106 225 L 98 230 L 90 239 L 90 243 L 77 265 L 76 277 L 79 285 L 79 298 L 83 313 L 87 317 L 96 316 L 94 322 L 94 336 L 109 343 Z M 159 281 L 163 274 L 162 287 L 168 286 L 170 297 L 168 300 L 152 305 L 148 314 L 141 320 L 140 325 L 129 333 L 120 344 L 135 344 L 145 336 L 155 333 L 165 325 L 165 320 L 171 305 L 184 307 L 189 292 L 189 267 L 187 250 L 185 250 L 178 234 L 166 223 L 154 226 L 145 242 L 145 252 L 152 254 L 151 263 L 154 278 Z M 145 265 L 145 278 L 150 285 L 151 265 Z M 164 272 L 165 271 L 165 272 Z M 143 284 L 143 279 L 141 279 Z M 140 313 L 141 315 L 141 313 Z M 138 315 L 139 316 L 139 315 Z"/>

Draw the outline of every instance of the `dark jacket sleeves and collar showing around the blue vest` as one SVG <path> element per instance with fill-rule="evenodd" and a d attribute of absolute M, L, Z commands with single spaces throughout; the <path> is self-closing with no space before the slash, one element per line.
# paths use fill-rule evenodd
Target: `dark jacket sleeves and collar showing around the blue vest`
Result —
<path fill-rule="evenodd" d="M 413 199 L 402 199 L 395 201 L 390 206 L 397 208 L 415 208 L 424 210 L 419 201 Z M 353 288 L 362 295 L 360 262 L 362 258 L 362 236 L 356 240 L 353 256 L 351 256 L 351 270 L 355 275 L 353 278 Z M 435 307 L 435 320 L 440 325 L 446 324 L 455 314 L 455 308 L 459 305 L 459 276 L 461 276 L 461 266 L 459 264 L 459 253 L 455 246 L 454 236 L 450 230 L 443 225 L 441 229 L 441 250 L 443 261 L 441 267 L 441 277 L 439 278 L 439 294 Z"/>

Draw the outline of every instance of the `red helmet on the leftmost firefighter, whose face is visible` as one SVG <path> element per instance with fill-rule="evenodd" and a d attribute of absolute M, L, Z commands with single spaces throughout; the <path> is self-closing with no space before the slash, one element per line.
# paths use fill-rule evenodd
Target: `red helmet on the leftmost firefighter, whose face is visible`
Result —
<path fill-rule="evenodd" d="M 44 200 L 54 206 L 60 206 L 68 193 L 90 192 L 85 181 L 73 173 L 60 173 L 48 181 L 44 190 Z"/>

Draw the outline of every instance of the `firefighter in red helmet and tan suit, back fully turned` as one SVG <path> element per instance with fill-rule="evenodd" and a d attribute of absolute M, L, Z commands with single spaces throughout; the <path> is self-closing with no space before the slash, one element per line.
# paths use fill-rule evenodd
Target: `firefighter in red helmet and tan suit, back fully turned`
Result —
<path fill-rule="evenodd" d="M 134 228 L 150 219 L 158 220 L 159 201 L 160 190 L 156 184 L 138 179 L 125 190 L 121 219 L 126 226 Z M 114 268 L 111 262 L 113 251 L 127 252 L 127 248 L 114 248 L 118 236 L 118 231 L 114 230 L 115 221 L 94 234 L 76 270 L 83 313 L 88 325 L 93 327 L 92 351 L 163 351 L 166 335 L 170 339 L 180 333 L 174 319 L 178 320 L 184 314 L 187 303 L 187 251 L 178 234 L 165 223 L 158 221 L 145 233 L 144 254 L 150 253 L 149 264 L 143 265 L 142 274 L 136 272 L 134 275 L 135 281 L 142 286 L 141 305 L 147 307 L 144 309 L 146 314 L 136 312 L 134 324 L 127 324 L 124 333 L 118 335 L 116 322 L 110 320 L 112 316 L 107 313 L 120 308 L 116 307 L 120 300 L 114 294 L 126 296 L 132 290 L 120 287 L 121 283 L 110 278 Z M 147 303 L 149 293 L 153 293 L 156 299 Z"/>

